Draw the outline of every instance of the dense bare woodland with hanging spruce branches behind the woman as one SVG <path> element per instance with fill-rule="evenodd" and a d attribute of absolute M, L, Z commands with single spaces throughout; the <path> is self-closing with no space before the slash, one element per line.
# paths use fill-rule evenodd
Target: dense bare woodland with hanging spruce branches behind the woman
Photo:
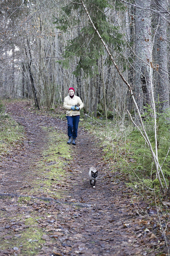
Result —
<path fill-rule="evenodd" d="M 142 109 L 149 102 L 149 66 L 155 100 L 169 107 L 168 1 L 86 1 L 87 9 Z M 85 112 L 131 110 L 130 94 L 86 13 L 70 1 L 1 1 L 0 96 L 62 103 L 75 87 Z M 62 32 L 64 31 L 64 32 Z M 153 48 L 153 49 L 152 49 Z M 66 69 L 67 68 L 67 69 Z M 109 114 L 110 115 L 110 114 Z"/>

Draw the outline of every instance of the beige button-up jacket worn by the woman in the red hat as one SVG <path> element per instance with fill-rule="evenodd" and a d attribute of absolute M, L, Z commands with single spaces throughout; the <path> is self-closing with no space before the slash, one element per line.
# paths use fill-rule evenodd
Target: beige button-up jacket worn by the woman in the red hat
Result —
<path fill-rule="evenodd" d="M 84 104 L 82 103 L 80 97 L 74 95 L 73 99 L 70 98 L 70 95 L 64 98 L 64 104 L 63 107 L 67 109 L 66 116 L 78 116 L 80 115 L 79 110 L 72 110 L 71 107 L 74 105 L 79 105 L 79 108 L 83 108 Z"/>

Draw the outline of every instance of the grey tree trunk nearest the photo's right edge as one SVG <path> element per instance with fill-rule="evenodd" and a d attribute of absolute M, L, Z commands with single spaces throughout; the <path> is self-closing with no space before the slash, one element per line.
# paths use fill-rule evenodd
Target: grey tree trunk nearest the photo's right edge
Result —
<path fill-rule="evenodd" d="M 163 12 L 167 10 L 166 0 L 157 1 L 159 11 Z M 164 111 L 169 108 L 169 80 L 168 80 L 168 59 L 167 59 L 167 42 L 166 42 L 166 28 L 167 21 L 162 17 L 164 13 L 159 14 L 159 26 L 158 26 L 158 44 L 157 44 L 157 52 L 158 52 L 158 80 L 157 80 L 157 94 L 159 94 L 159 101 L 161 109 L 160 111 Z"/>

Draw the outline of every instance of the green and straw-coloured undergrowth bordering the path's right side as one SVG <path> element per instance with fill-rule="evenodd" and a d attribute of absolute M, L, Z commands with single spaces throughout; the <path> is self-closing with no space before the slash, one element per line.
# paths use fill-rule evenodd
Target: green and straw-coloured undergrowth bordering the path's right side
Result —
<path fill-rule="evenodd" d="M 103 116 L 95 118 L 91 115 L 91 117 L 81 111 L 79 127 L 83 127 L 95 135 L 96 141 L 103 147 L 105 159 L 110 163 L 110 168 L 113 171 L 119 169 L 120 172 L 123 172 L 127 185 L 134 189 L 140 190 L 141 188 L 143 191 L 145 184 L 147 187 L 155 188 L 159 194 L 160 185 L 156 179 L 156 168 L 150 148 L 131 121 L 127 117 L 124 120 L 121 117 L 108 119 L 106 127 L 106 120 Z M 152 148 L 155 150 L 152 110 L 147 108 L 142 118 Z M 157 113 L 158 159 L 167 184 L 169 184 L 170 176 L 170 154 L 167 155 L 170 146 L 168 118 L 169 113 Z"/>

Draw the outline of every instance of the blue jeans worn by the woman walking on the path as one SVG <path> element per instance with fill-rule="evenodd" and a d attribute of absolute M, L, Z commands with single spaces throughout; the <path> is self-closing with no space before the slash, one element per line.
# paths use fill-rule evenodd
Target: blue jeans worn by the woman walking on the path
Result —
<path fill-rule="evenodd" d="M 77 129 L 80 116 L 66 116 L 68 125 L 68 137 L 77 137 Z"/>

